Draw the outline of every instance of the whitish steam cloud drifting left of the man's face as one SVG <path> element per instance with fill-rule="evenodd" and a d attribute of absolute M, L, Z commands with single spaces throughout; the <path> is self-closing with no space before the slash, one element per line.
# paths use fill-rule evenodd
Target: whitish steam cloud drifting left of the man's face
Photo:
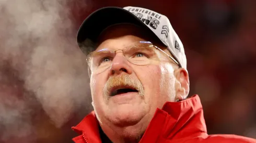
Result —
<path fill-rule="evenodd" d="M 81 107 L 91 110 L 87 66 L 76 46 L 70 2 L 0 0 L 0 142 L 36 134 L 30 120 L 38 105 L 31 96 L 56 127 Z M 17 93 L 23 90 L 3 71 L 7 64 L 28 91 L 21 97 Z"/>

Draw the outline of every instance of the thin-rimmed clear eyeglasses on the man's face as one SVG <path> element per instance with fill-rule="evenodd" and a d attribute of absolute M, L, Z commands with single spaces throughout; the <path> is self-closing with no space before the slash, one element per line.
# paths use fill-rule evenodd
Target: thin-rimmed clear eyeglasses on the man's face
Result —
<path fill-rule="evenodd" d="M 159 52 L 159 50 L 161 52 Z M 180 64 L 165 51 L 153 45 L 151 42 L 139 41 L 123 49 L 110 50 L 108 48 L 92 51 L 87 56 L 88 67 L 94 74 L 99 74 L 111 67 L 112 60 L 118 51 L 122 51 L 124 57 L 132 64 L 145 66 L 154 61 L 160 61 L 164 56 L 171 58 L 178 66 Z"/>

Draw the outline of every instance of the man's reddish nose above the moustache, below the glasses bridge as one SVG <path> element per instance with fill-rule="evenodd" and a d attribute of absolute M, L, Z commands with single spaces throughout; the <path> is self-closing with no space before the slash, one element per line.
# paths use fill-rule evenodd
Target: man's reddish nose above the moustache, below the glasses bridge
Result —
<path fill-rule="evenodd" d="M 123 53 L 117 53 L 112 61 L 109 74 L 121 74 L 122 72 L 132 74 L 132 67 L 129 66 Z"/>

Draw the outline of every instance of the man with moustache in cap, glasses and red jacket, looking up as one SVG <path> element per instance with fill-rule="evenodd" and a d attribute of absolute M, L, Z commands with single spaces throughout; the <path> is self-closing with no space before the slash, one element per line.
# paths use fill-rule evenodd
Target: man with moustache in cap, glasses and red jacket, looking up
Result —
<path fill-rule="evenodd" d="M 75 142 L 256 142 L 208 135 L 200 98 L 189 94 L 184 48 L 168 18 L 139 7 L 106 7 L 78 31 L 94 111 Z"/>

